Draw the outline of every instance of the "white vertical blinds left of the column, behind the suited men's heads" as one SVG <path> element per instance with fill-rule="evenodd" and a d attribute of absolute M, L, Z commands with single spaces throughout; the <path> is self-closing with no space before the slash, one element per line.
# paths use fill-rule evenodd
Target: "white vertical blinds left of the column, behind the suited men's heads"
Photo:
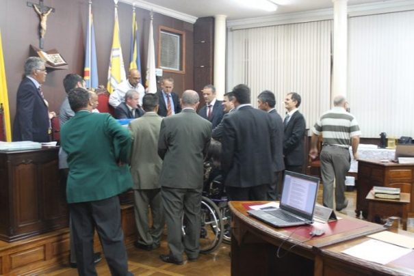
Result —
<path fill-rule="evenodd" d="M 245 83 L 254 106 L 260 92 L 274 92 L 282 118 L 285 95 L 297 92 L 313 126 L 331 102 L 331 33 L 332 20 L 231 31 L 227 88 Z"/>

